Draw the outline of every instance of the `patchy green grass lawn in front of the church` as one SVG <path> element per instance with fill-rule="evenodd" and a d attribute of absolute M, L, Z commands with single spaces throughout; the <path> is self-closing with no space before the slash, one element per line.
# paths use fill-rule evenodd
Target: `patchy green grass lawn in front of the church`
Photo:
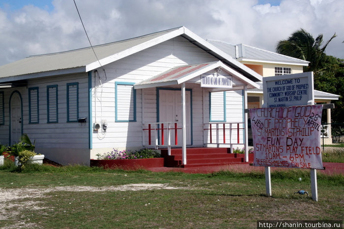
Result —
<path fill-rule="evenodd" d="M 293 194 L 300 189 L 311 194 L 309 171 L 301 169 L 273 172 L 272 197 L 265 195 L 261 173 L 203 175 L 83 166 L 35 166 L 18 173 L 7 166 L 0 168 L 0 177 L 5 200 L 0 201 L 0 225 L 7 228 L 246 229 L 256 228 L 257 220 L 342 220 L 344 213 L 344 177 L 318 174 L 315 202 Z M 128 184 L 153 187 L 126 189 Z"/>

